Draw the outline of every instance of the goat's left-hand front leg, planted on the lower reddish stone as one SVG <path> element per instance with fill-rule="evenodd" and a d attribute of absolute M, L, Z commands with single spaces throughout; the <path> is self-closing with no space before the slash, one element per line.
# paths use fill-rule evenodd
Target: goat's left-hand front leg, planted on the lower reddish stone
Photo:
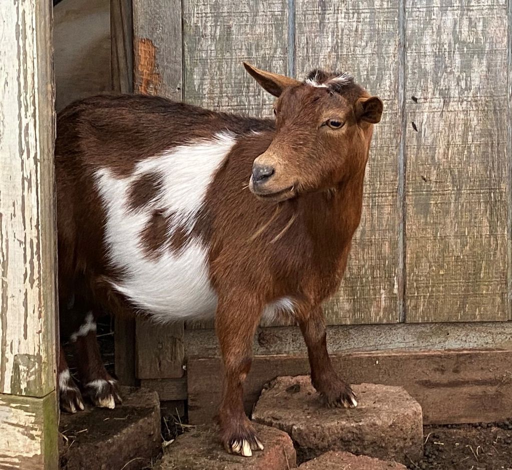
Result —
<path fill-rule="evenodd" d="M 221 439 L 226 451 L 250 457 L 263 450 L 245 415 L 243 386 L 252 363 L 252 341 L 262 308 L 243 298 L 219 300 L 216 330 L 224 362 L 224 390 L 219 410 Z"/>

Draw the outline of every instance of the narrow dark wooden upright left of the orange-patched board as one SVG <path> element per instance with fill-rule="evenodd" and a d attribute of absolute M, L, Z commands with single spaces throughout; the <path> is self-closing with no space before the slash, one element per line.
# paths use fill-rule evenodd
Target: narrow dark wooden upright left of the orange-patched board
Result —
<path fill-rule="evenodd" d="M 133 91 L 132 0 L 110 0 L 112 89 Z"/>

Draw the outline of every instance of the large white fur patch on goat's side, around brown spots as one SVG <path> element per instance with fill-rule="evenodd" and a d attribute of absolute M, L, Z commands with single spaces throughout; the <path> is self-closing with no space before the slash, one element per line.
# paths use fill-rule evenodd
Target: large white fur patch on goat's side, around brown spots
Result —
<path fill-rule="evenodd" d="M 217 296 L 209 282 L 207 247 L 200 240 L 191 240 L 179 252 L 162 249 L 159 257 L 152 259 L 140 246 L 141 231 L 158 209 L 165 215 L 172 213 L 175 226 L 179 224 L 190 233 L 208 186 L 235 142 L 233 134 L 219 133 L 211 140 L 180 145 L 143 160 L 129 177 L 116 178 L 106 168 L 96 174 L 107 212 L 108 256 L 126 273 L 112 285 L 158 322 L 213 314 Z M 162 194 L 147 206 L 131 210 L 127 203 L 130 185 L 153 172 L 164 177 Z M 173 228 L 169 238 L 172 233 Z"/>

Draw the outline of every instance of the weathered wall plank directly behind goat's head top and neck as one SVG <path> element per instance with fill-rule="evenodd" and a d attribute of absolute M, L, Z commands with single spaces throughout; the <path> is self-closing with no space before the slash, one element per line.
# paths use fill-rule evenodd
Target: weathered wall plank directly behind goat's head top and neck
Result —
<path fill-rule="evenodd" d="M 345 279 L 326 305 L 329 324 L 398 321 L 398 145 L 400 109 L 397 0 L 296 0 L 296 70 L 346 71 L 382 98 L 374 127 L 362 220 Z"/>

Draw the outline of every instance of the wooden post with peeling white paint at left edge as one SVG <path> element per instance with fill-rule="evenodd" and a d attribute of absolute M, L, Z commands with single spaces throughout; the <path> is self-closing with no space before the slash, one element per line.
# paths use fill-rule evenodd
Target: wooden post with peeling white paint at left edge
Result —
<path fill-rule="evenodd" d="M 57 468 L 50 2 L 0 2 L 0 468 Z"/>

